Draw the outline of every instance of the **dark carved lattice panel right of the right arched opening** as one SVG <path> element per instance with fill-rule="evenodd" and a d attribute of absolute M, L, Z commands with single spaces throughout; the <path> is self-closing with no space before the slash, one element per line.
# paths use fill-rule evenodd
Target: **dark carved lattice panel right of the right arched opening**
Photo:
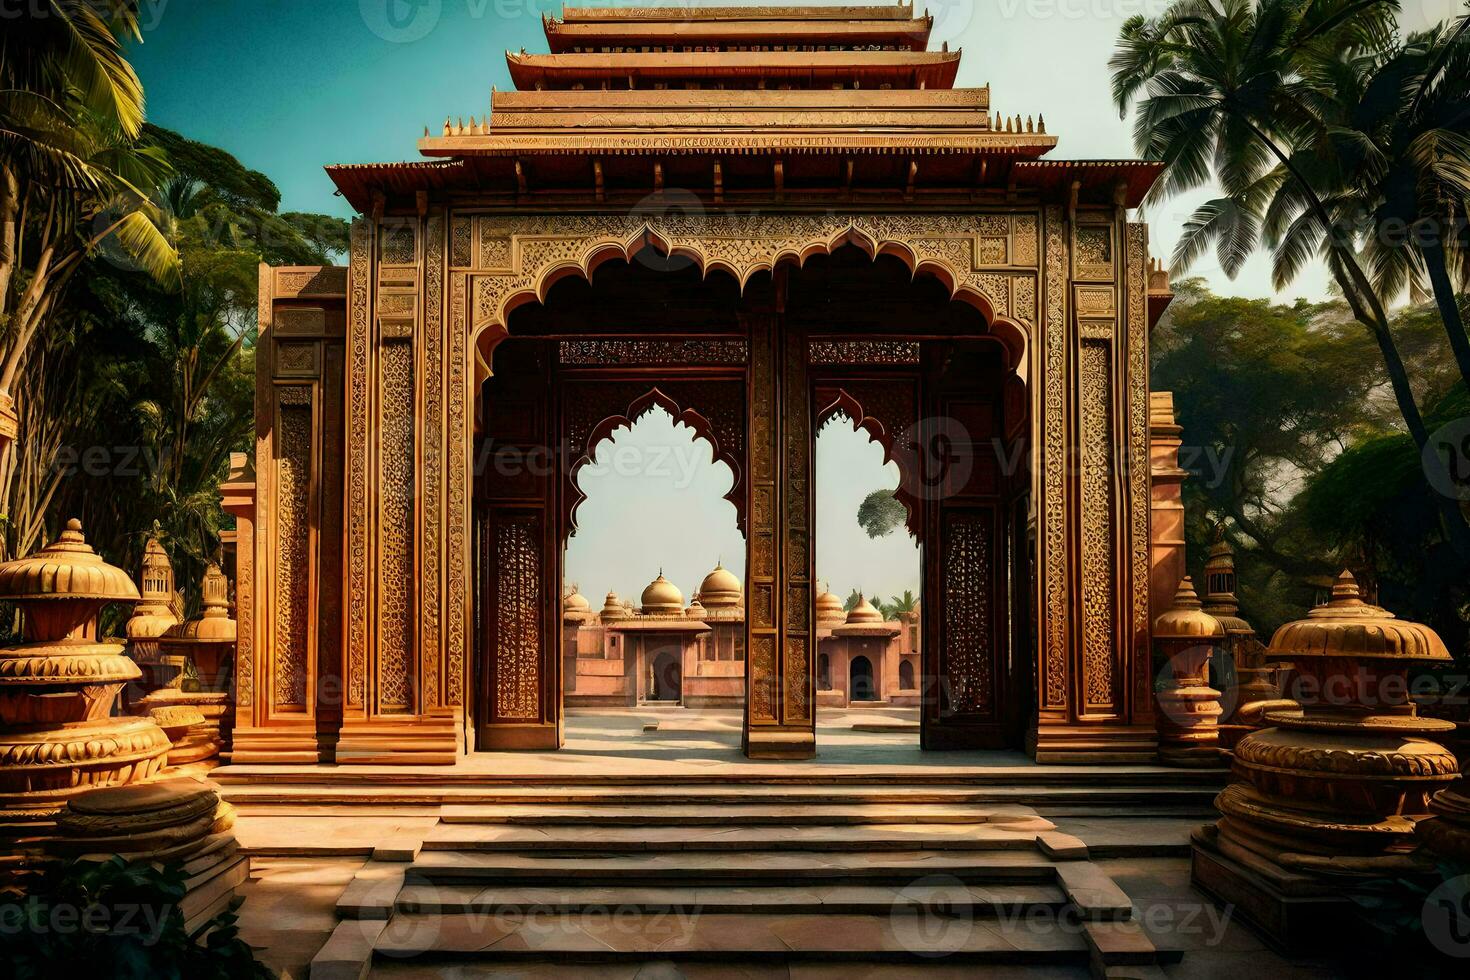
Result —
<path fill-rule="evenodd" d="M 947 707 L 956 714 L 995 710 L 995 516 L 950 511 L 939 529 Z"/>

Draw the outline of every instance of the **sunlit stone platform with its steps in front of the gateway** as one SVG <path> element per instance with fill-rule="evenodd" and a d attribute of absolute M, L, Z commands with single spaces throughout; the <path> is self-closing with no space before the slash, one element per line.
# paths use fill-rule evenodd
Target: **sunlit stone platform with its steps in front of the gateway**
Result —
<path fill-rule="evenodd" d="M 1223 773 L 920 752 L 856 727 L 873 714 L 823 713 L 826 749 L 800 763 L 742 758 L 719 714 L 598 711 L 562 752 L 212 776 L 257 860 L 369 858 L 313 977 L 1177 961 L 1098 858 L 1185 855 Z"/>

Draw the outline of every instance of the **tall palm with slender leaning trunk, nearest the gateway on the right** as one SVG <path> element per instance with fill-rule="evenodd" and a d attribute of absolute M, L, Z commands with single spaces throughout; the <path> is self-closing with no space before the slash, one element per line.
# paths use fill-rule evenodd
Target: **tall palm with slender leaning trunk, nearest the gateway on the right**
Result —
<path fill-rule="evenodd" d="M 1320 110 L 1330 98 L 1314 69 L 1339 51 L 1379 47 L 1392 34 L 1396 0 L 1177 0 L 1163 16 L 1129 18 L 1108 62 L 1120 113 L 1138 100 L 1135 143 L 1164 162 L 1148 201 L 1216 178 L 1225 195 L 1185 223 L 1175 267 L 1216 247 L 1226 275 L 1239 272 L 1267 217 L 1288 228 L 1277 248 L 1316 245 L 1354 317 L 1383 357 L 1395 403 L 1423 451 L 1429 430 L 1388 311 L 1344 223 L 1345 175 L 1320 153 Z M 1295 226 L 1295 228 L 1294 228 Z M 1273 244 L 1273 242 L 1267 242 Z M 1426 463 L 1444 469 L 1433 453 Z M 1448 472 L 1433 473 L 1449 482 Z M 1455 501 L 1436 495 L 1445 533 L 1470 554 L 1470 526 Z"/>

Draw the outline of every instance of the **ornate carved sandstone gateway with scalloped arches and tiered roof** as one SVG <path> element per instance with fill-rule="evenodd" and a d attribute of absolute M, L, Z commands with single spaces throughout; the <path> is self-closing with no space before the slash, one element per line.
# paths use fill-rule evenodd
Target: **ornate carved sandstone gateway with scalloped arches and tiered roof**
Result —
<path fill-rule="evenodd" d="M 741 614 L 707 626 L 742 669 L 709 688 L 748 757 L 822 751 L 813 447 L 841 416 L 920 545 L 892 683 L 922 745 L 1157 758 L 1182 473 L 1148 389 L 1167 276 L 1129 209 L 1160 165 L 1054 159 L 1020 94 L 956 88 L 931 26 L 569 9 L 487 116 L 328 167 L 347 267 L 260 270 L 234 764 L 559 746 L 595 686 L 566 655 L 576 473 L 653 407 L 735 475 Z"/>

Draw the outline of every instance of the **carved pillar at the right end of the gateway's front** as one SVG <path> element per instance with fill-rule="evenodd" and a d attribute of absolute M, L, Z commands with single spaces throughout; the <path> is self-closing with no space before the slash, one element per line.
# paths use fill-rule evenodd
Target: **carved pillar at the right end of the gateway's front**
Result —
<path fill-rule="evenodd" d="M 1045 239 L 1035 755 L 1148 761 L 1147 234 L 1122 209 L 1051 207 Z"/>

